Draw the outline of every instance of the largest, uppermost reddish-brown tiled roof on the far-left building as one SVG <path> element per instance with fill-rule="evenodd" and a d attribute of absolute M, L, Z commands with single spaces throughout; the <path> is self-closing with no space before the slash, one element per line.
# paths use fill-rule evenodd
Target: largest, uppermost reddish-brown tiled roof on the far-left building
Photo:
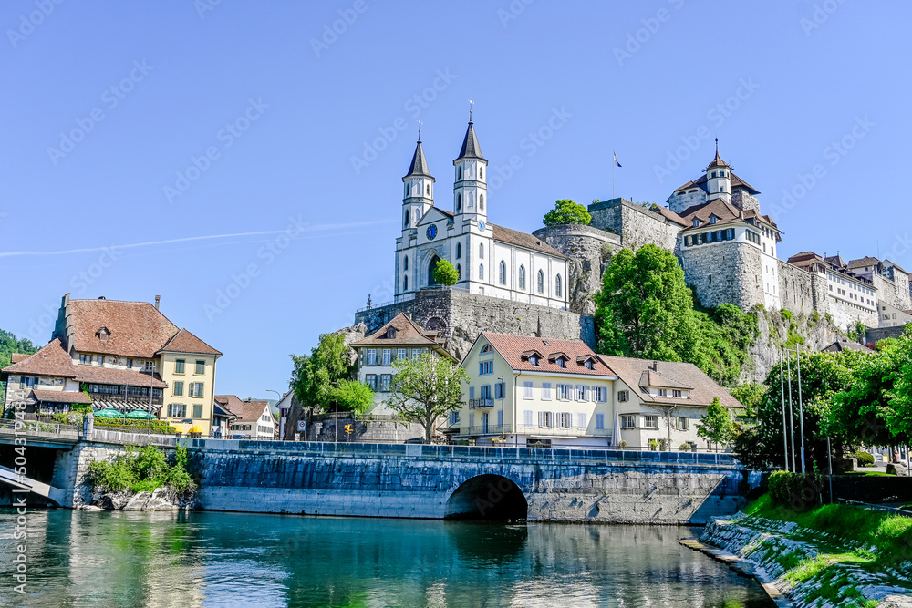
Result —
<path fill-rule="evenodd" d="M 148 302 L 70 300 L 69 321 L 77 351 L 151 358 L 178 332 L 177 325 Z M 106 328 L 105 341 L 98 332 Z"/>

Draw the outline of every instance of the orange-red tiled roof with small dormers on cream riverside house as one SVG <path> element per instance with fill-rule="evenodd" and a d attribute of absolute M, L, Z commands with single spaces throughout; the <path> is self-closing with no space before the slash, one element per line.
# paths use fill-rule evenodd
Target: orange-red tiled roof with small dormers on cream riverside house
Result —
<path fill-rule="evenodd" d="M 507 365 L 517 371 L 551 372 L 554 374 L 573 374 L 575 376 L 615 376 L 609 366 L 598 358 L 595 351 L 582 340 L 558 340 L 527 335 L 491 334 L 482 332 L 479 336 L 488 341 Z M 542 355 L 538 365 L 529 362 L 529 355 L 537 352 Z M 557 356 L 565 355 L 566 367 L 557 365 Z M 586 367 L 586 359 L 591 358 L 593 369 Z"/>

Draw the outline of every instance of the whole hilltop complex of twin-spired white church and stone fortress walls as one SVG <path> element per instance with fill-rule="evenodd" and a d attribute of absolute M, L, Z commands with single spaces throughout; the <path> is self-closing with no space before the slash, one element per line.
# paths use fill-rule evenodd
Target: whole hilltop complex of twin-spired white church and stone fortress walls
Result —
<path fill-rule="evenodd" d="M 667 206 L 595 201 L 588 206 L 588 226 L 545 227 L 533 234 L 488 222 L 487 164 L 470 118 L 453 160 L 451 203 L 439 207 L 419 137 L 402 178 L 395 300 L 359 310 L 356 323 L 369 332 L 396 314 L 409 314 L 445 336 L 458 357 L 482 331 L 579 338 L 595 346 L 592 295 L 602 274 L 619 249 L 648 243 L 675 253 L 704 306 L 731 303 L 744 311 L 784 309 L 825 318 L 826 331 L 812 340 L 821 344 L 812 347 L 858 322 L 896 325 L 896 314 L 900 321 L 912 320 L 909 274 L 896 263 L 870 257 L 845 263 L 838 255 L 814 252 L 780 259 L 782 231 L 762 214 L 761 192 L 722 160 L 718 141 L 703 175 L 672 191 Z M 459 273 L 450 289 L 434 280 L 438 259 L 449 260 Z M 765 374 L 763 367 L 756 376 Z"/>

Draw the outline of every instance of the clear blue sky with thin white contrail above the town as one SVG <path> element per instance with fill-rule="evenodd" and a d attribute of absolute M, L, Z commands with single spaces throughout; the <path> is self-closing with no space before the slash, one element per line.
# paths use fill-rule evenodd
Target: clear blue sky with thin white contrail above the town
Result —
<path fill-rule="evenodd" d="M 391 296 L 419 116 L 451 207 L 469 98 L 492 222 L 609 198 L 612 149 L 617 194 L 663 202 L 718 136 L 782 257 L 912 269 L 907 2 L 44 3 L 0 5 L 0 327 L 38 344 L 67 292 L 161 294 L 223 351 L 219 392 L 285 390 L 289 354 Z"/>

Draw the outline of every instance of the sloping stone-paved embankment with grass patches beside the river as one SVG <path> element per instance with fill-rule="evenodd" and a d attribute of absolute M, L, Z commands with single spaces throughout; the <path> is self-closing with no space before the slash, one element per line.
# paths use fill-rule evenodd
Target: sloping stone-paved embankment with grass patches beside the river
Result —
<path fill-rule="evenodd" d="M 682 542 L 756 577 L 779 606 L 912 607 L 912 561 L 886 566 L 876 547 L 834 533 L 738 513 Z"/>

